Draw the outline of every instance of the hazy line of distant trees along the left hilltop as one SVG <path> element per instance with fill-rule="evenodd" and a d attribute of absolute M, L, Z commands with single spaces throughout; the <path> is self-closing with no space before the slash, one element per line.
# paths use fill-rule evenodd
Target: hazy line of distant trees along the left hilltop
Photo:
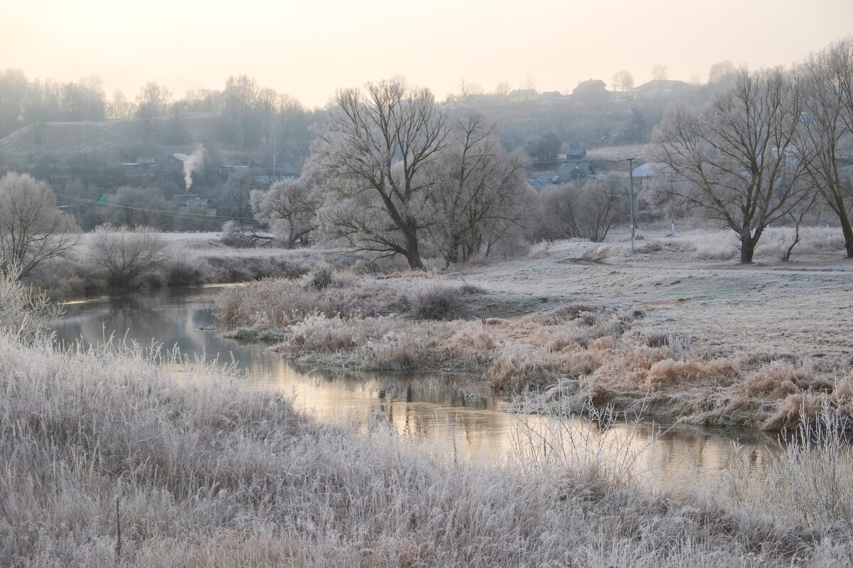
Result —
<path fill-rule="evenodd" d="M 30 80 L 18 69 L 0 72 L 0 138 L 29 125 L 39 140 L 49 122 L 138 119 L 143 145 L 181 144 L 194 142 L 183 127 L 190 113 L 218 115 L 223 141 L 270 162 L 301 161 L 308 154 L 309 126 L 318 119 L 293 96 L 262 87 L 247 75 L 229 77 L 223 90 L 189 90 L 177 98 L 156 82 L 145 84 L 136 96 L 122 90 L 107 96 L 96 75 L 58 82 Z"/>

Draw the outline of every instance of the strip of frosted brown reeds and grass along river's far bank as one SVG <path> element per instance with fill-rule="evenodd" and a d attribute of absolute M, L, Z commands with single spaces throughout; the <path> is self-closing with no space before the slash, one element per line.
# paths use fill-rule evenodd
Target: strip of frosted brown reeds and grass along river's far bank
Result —
<path fill-rule="evenodd" d="M 467 285 L 327 277 L 321 289 L 311 275 L 235 287 L 219 309 L 235 336 L 275 338 L 297 362 L 476 374 L 518 394 L 515 407 L 528 411 L 582 412 L 592 401 L 648 418 L 786 429 L 818 403 L 846 408 L 838 358 L 693 345 L 649 333 L 642 310 L 562 304 L 504 319 L 490 316 L 494 293 Z M 794 407 L 804 400 L 800 416 Z"/>

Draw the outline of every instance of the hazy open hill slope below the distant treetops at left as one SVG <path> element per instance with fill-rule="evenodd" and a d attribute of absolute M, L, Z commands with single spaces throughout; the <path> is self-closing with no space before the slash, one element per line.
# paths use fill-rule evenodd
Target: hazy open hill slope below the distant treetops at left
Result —
<path fill-rule="evenodd" d="M 223 142 L 218 116 L 213 113 L 183 116 L 178 122 L 177 135 L 173 119 L 160 117 L 154 120 L 151 132 L 146 144 L 139 119 L 27 125 L 0 140 L 0 161 L 65 163 L 89 157 L 119 163 L 147 155 L 162 158 L 171 152 L 187 152 L 200 143 L 217 148 L 222 159 L 239 155 L 231 144 Z"/>

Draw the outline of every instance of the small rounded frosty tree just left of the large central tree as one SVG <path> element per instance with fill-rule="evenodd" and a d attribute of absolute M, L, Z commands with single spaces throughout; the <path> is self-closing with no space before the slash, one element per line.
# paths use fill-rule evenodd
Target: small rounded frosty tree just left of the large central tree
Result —
<path fill-rule="evenodd" d="M 305 244 L 317 228 L 316 197 L 303 180 L 274 184 L 267 191 L 252 191 L 252 211 L 258 221 L 270 223 L 287 248 Z"/>

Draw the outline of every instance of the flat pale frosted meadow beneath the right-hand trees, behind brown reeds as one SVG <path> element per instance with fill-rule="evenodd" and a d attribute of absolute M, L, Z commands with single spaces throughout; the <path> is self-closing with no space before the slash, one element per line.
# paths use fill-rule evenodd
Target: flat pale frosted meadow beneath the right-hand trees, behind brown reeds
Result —
<path fill-rule="evenodd" d="M 545 258 L 489 264 L 450 278 L 548 302 L 640 307 L 645 317 L 638 325 L 696 345 L 818 357 L 853 350 L 853 260 L 843 249 L 791 262 L 759 249 L 751 265 L 695 258 L 697 247 L 731 241 L 717 233 L 646 239 L 637 241 L 633 257 L 621 239 L 563 241 L 549 246 Z"/>

